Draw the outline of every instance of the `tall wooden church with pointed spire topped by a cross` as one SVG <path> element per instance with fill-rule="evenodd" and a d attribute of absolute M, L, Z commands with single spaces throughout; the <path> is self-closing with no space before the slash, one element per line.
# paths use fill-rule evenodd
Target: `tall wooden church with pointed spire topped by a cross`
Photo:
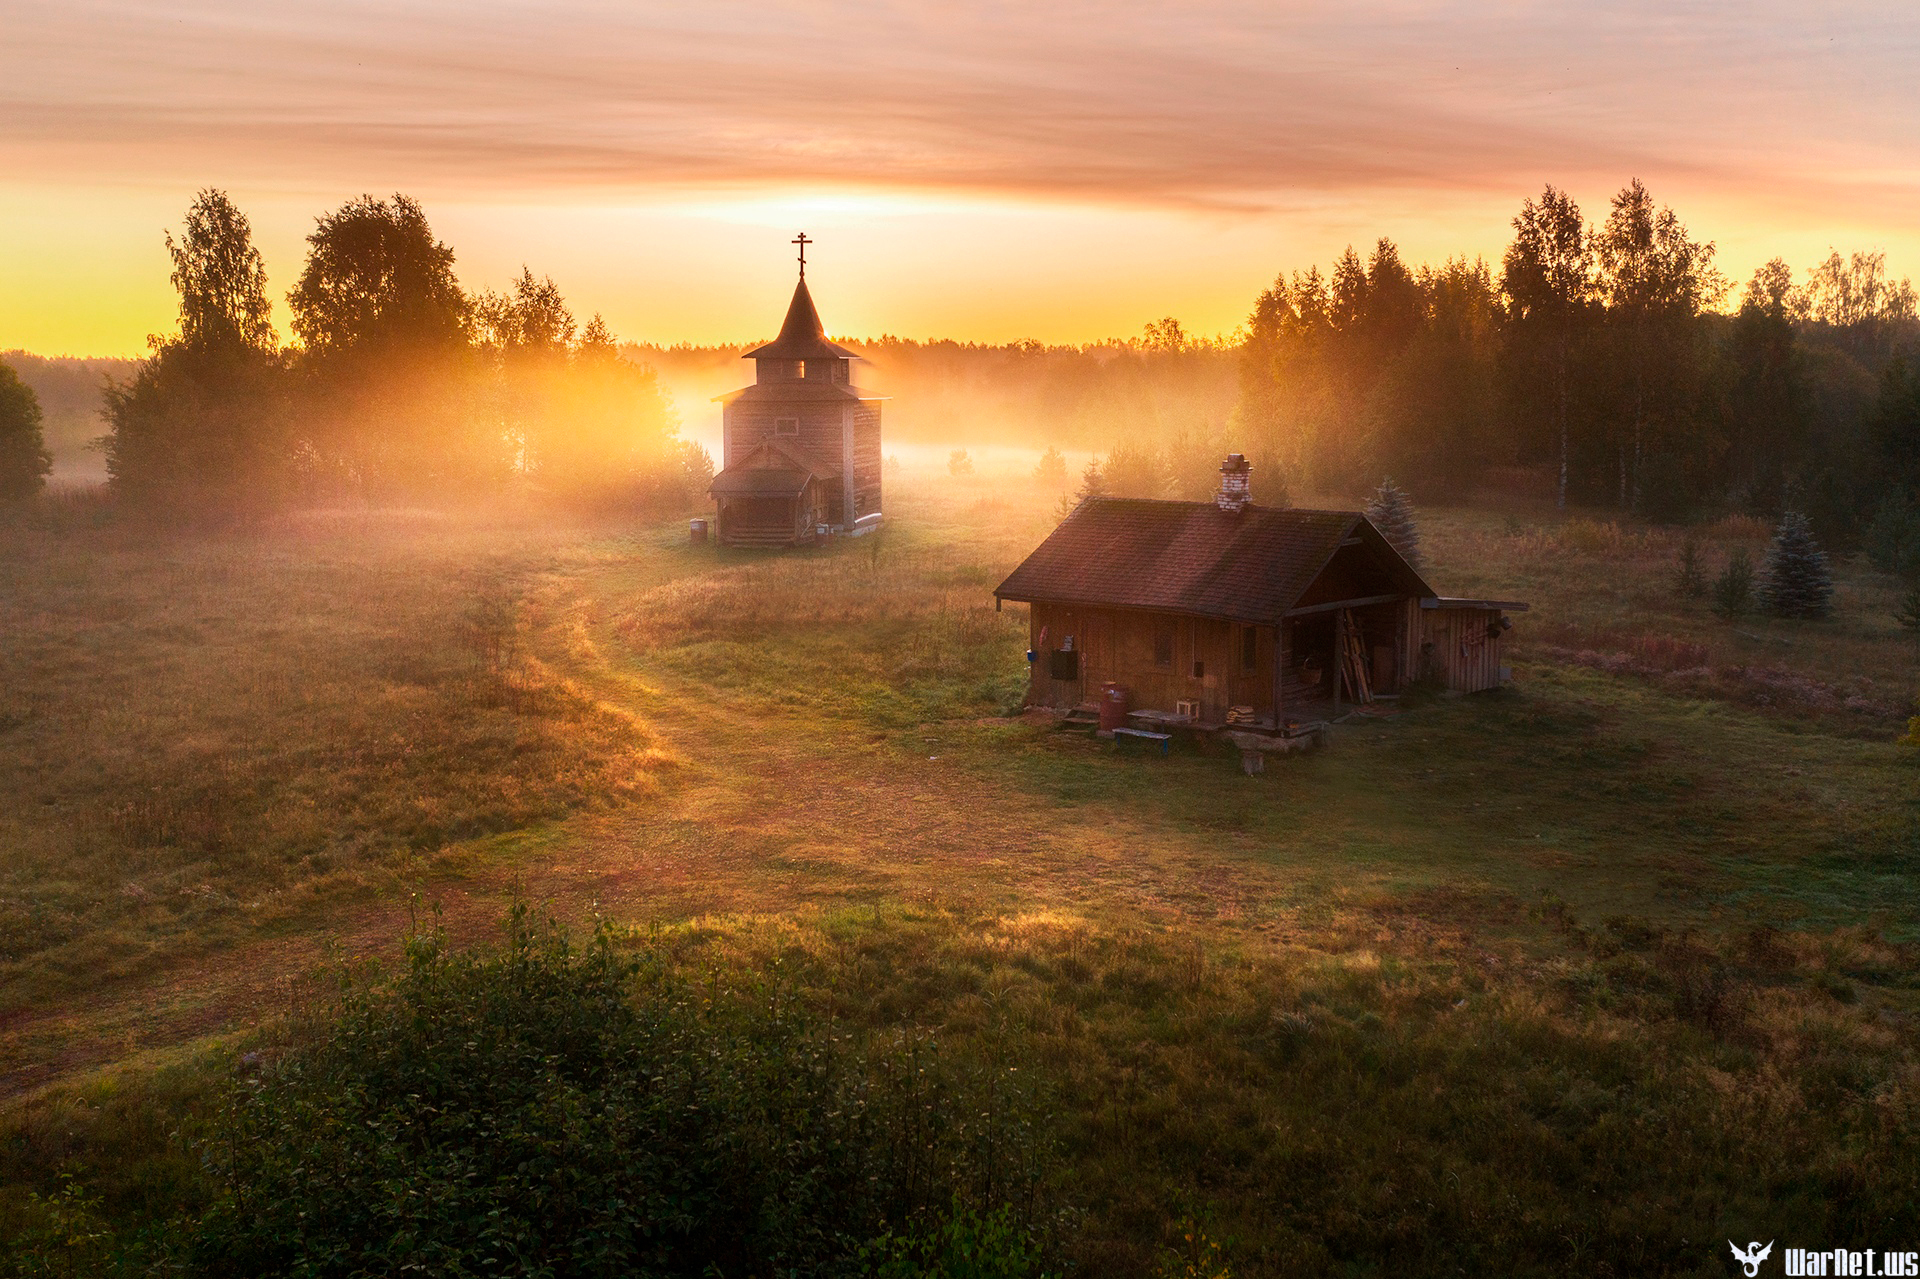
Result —
<path fill-rule="evenodd" d="M 720 396 L 722 467 L 708 494 L 722 545 L 804 545 L 879 524 L 879 396 L 852 384 L 858 359 L 828 342 L 801 282 L 780 336 L 747 351 L 753 386 Z"/>

